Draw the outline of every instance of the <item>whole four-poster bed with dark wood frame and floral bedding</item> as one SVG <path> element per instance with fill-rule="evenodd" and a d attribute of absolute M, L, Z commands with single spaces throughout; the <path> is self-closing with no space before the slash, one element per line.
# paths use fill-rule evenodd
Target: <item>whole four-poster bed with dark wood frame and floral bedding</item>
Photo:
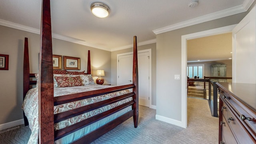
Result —
<path fill-rule="evenodd" d="M 54 79 L 57 80 L 59 76 L 54 76 L 52 66 L 50 0 L 42 0 L 41 47 L 39 72 L 36 75 L 38 76 L 38 81 L 36 88 L 32 89 L 30 89 L 30 84 L 36 84 L 36 81 L 30 80 L 30 77 L 33 77 L 34 74 L 30 74 L 29 69 L 28 38 L 25 38 L 24 43 L 23 109 L 25 109 L 25 125 L 30 122 L 30 128 L 35 126 L 34 133 L 32 130 L 34 135 L 31 137 L 38 136 L 38 142 L 43 144 L 52 144 L 54 142 L 70 143 L 67 141 L 70 139 L 72 139 L 73 143 L 90 143 L 132 116 L 134 127 L 136 128 L 138 125 L 138 62 L 136 36 L 134 36 L 133 56 L 133 84 L 124 86 L 84 84 L 84 86 L 54 88 Z M 88 51 L 88 68 L 86 74 L 89 76 L 91 74 L 90 51 Z M 76 78 L 79 79 L 79 76 Z M 90 91 L 84 92 L 80 90 L 80 88 L 90 85 L 93 86 Z M 100 87 L 100 90 L 94 87 Z M 132 88 L 133 92 L 128 90 L 130 88 Z M 28 94 L 34 97 L 29 97 Z M 85 102 L 92 99 L 95 101 L 89 103 Z M 36 102 L 38 105 L 36 105 Z M 78 103 L 74 106 L 76 108 L 62 110 L 62 108 L 70 107 L 69 104 L 74 103 Z M 28 108 L 26 108 L 25 105 L 28 105 Z M 35 110 L 32 110 L 32 107 L 35 107 Z M 91 114 L 90 112 L 95 114 Z M 30 113 L 36 116 L 32 117 Z M 28 121 L 26 121 L 25 115 L 29 117 Z M 74 123 L 74 121 L 76 121 L 76 123 Z M 72 124 L 70 124 L 70 122 L 72 122 Z M 36 124 L 38 124 L 38 126 Z M 88 127 L 94 124 L 97 126 L 92 126 L 94 128 Z M 81 131 L 83 134 L 81 134 Z M 38 134 L 36 132 L 38 132 Z M 71 135 L 73 135 L 73 138 L 68 137 Z M 83 136 L 78 137 L 78 135 Z"/>

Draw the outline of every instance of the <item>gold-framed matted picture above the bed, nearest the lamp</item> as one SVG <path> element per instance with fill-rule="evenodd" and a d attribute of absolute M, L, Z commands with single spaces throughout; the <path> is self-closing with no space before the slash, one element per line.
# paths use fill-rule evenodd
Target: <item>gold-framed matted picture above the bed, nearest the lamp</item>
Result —
<path fill-rule="evenodd" d="M 80 70 L 80 58 L 63 56 L 64 70 Z"/>

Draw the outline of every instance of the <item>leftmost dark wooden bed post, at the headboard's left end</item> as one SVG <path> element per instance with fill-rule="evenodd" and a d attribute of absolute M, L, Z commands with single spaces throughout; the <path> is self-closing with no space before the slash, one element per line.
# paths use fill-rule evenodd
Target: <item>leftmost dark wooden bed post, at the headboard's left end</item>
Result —
<path fill-rule="evenodd" d="M 29 56 L 28 56 L 28 38 L 24 41 L 24 58 L 23 58 L 23 100 L 29 90 L 30 84 Z M 28 126 L 28 119 L 23 112 L 24 124 Z"/>

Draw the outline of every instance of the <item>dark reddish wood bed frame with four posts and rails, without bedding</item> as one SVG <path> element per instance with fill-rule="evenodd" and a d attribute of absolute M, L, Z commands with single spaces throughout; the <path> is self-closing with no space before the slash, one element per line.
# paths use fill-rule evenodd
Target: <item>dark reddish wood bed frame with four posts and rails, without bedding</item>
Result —
<path fill-rule="evenodd" d="M 42 0 L 42 17 L 41 17 L 41 34 L 40 34 L 40 54 L 39 54 L 39 72 L 38 72 L 38 118 L 39 118 L 39 143 L 42 144 L 53 144 L 54 140 L 58 140 L 76 130 L 84 128 L 98 120 L 101 120 L 115 112 L 118 112 L 128 106 L 132 106 L 132 110 L 123 114 L 122 116 L 108 122 L 104 126 L 90 132 L 89 134 L 83 136 L 82 138 L 73 142 L 74 144 L 84 144 L 90 143 L 106 132 L 112 130 L 122 122 L 126 121 L 133 116 L 134 127 L 138 126 L 138 62 L 137 62 L 137 40 L 134 36 L 134 47 L 133 47 L 133 84 L 128 84 L 124 86 L 116 86 L 112 88 L 105 88 L 101 90 L 94 90 L 89 92 L 82 92 L 77 94 L 68 94 L 64 96 L 54 97 L 54 84 L 53 84 L 53 66 L 52 66 L 52 32 L 51 32 L 51 16 L 50 16 L 50 0 Z M 90 51 L 88 51 L 88 66 L 87 73 L 91 74 L 90 67 Z M 28 57 L 28 38 L 25 38 L 24 42 L 24 70 L 23 70 L 23 96 L 26 95 L 30 89 L 30 84 L 36 84 L 36 81 L 31 81 L 30 77 L 34 74 L 30 74 L 29 69 L 29 57 Z M 133 92 L 129 94 L 124 94 L 109 100 L 104 100 L 102 102 L 97 102 L 95 104 L 90 104 L 88 106 L 83 106 L 74 110 L 69 110 L 59 114 L 53 114 L 54 106 L 59 104 L 65 104 L 68 102 L 74 102 L 76 100 L 82 100 L 86 98 L 91 98 L 94 96 L 100 96 L 103 94 L 108 94 L 111 92 L 117 92 L 120 90 L 133 89 Z M 131 102 L 122 104 L 116 108 L 63 128 L 61 130 L 54 131 L 54 123 L 60 122 L 62 120 L 83 114 L 85 112 L 118 102 L 125 98 L 132 97 Z M 25 125 L 28 125 L 26 116 L 24 116 Z"/>

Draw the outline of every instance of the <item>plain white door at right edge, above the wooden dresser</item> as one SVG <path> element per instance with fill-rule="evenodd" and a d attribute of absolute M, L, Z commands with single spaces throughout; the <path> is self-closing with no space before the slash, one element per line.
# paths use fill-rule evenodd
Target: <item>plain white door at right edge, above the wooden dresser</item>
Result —
<path fill-rule="evenodd" d="M 232 30 L 232 82 L 256 83 L 256 8 Z"/>

